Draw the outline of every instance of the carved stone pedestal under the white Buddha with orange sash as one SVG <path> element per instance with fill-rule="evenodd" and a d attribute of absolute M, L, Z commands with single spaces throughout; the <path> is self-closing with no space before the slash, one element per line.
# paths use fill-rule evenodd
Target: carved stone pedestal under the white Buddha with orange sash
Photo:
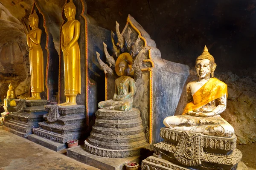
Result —
<path fill-rule="evenodd" d="M 154 144 L 154 156 L 143 160 L 142 170 L 235 170 L 242 158 L 236 135 L 215 137 L 161 128 L 163 142 Z"/>

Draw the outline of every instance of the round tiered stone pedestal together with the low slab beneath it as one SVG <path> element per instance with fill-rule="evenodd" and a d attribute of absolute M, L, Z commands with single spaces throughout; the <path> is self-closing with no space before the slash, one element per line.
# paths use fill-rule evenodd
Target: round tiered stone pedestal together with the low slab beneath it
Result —
<path fill-rule="evenodd" d="M 148 153 L 149 144 L 138 109 L 127 112 L 99 109 L 96 117 L 90 137 L 84 141 L 86 152 L 75 147 L 67 150 L 67 156 L 101 170 L 122 170 L 126 161 L 118 158 L 133 161 L 139 159 L 134 156 Z"/>

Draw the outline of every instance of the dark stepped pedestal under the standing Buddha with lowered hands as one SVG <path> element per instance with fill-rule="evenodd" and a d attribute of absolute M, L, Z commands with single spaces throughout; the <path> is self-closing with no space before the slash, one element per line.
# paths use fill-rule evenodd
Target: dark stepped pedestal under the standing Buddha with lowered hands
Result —
<path fill-rule="evenodd" d="M 86 130 L 84 106 L 47 105 L 44 115 L 47 121 L 40 122 L 39 128 L 33 128 L 28 139 L 32 142 L 59 151 L 66 148 L 70 139 L 81 139 Z"/>

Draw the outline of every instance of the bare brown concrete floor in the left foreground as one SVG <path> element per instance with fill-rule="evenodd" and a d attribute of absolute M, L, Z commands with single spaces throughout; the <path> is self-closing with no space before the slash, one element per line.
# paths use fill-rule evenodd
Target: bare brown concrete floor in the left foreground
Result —
<path fill-rule="evenodd" d="M 99 170 L 16 136 L 0 126 L 0 170 Z"/>

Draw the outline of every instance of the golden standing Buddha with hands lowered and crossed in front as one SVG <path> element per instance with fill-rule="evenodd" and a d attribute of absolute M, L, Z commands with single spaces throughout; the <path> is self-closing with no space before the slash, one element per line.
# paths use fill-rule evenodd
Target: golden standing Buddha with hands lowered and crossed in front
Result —
<path fill-rule="evenodd" d="M 76 105 L 76 96 L 81 94 L 80 49 L 77 40 L 80 34 L 80 22 L 75 20 L 76 6 L 70 0 L 64 6 L 67 23 L 61 29 L 61 50 L 64 60 L 64 81 L 66 102 L 61 106 Z"/>

